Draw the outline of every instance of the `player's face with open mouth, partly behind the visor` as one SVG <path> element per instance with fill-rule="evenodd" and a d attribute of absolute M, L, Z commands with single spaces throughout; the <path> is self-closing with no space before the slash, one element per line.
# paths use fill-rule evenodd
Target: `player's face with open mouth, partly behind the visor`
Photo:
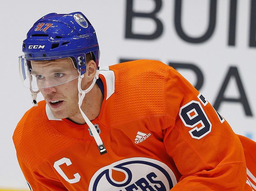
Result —
<path fill-rule="evenodd" d="M 40 92 L 50 107 L 52 114 L 58 118 L 68 118 L 80 114 L 78 108 L 78 71 L 74 67 L 70 58 L 62 58 L 53 61 L 31 61 L 32 74 L 36 75 L 36 81 Z M 62 82 L 61 78 L 74 79 L 64 84 L 47 87 L 57 82 Z M 70 78 L 70 79 L 71 79 Z M 46 87 L 46 88 L 40 88 Z"/>

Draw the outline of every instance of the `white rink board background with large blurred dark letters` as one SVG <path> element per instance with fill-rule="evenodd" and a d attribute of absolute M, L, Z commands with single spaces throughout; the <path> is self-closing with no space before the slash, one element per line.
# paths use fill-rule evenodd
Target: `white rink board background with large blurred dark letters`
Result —
<path fill-rule="evenodd" d="M 100 66 L 160 60 L 186 77 L 235 133 L 256 141 L 256 0 L 1 1 L 0 190 L 28 190 L 12 143 L 32 107 L 18 72 L 22 41 L 42 16 L 75 11 L 96 30 Z"/>

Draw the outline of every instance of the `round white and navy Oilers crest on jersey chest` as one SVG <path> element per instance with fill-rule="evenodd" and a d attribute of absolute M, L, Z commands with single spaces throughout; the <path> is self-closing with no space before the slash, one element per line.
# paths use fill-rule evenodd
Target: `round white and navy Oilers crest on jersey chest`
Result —
<path fill-rule="evenodd" d="M 164 163 L 150 158 L 127 158 L 99 169 L 89 191 L 169 191 L 177 180 Z"/>

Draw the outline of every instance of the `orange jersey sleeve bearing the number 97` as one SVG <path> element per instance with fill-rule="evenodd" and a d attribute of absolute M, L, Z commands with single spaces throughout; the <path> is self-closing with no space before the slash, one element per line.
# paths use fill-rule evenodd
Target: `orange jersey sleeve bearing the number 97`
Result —
<path fill-rule="evenodd" d="M 244 152 L 228 122 L 172 68 L 164 94 L 164 144 L 182 174 L 172 191 L 244 190 Z"/>

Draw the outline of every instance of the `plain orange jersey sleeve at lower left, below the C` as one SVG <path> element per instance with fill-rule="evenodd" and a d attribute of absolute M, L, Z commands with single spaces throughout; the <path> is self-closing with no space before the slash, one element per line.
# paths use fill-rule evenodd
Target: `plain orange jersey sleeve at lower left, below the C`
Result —
<path fill-rule="evenodd" d="M 57 180 L 51 180 L 45 178 L 42 175 L 35 174 L 32 172 L 28 166 L 21 160 L 17 155 L 20 169 L 28 183 L 28 187 L 31 191 L 67 191 L 68 189 Z"/>

